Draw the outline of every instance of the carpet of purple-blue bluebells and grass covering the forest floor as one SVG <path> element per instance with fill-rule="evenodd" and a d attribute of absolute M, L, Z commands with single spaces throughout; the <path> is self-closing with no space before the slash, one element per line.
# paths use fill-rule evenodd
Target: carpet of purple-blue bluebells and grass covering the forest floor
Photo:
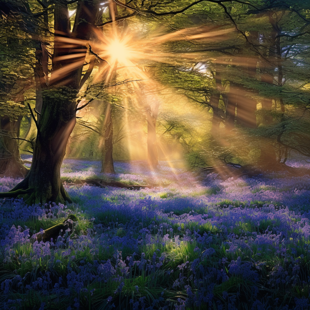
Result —
<path fill-rule="evenodd" d="M 74 203 L 0 201 L 1 309 L 310 309 L 310 176 L 65 160 Z M 307 166 L 306 162 L 291 162 Z M 104 178 L 152 188 L 72 185 Z M 0 179 L 0 191 L 20 180 Z M 31 236 L 74 214 L 51 242 Z"/>

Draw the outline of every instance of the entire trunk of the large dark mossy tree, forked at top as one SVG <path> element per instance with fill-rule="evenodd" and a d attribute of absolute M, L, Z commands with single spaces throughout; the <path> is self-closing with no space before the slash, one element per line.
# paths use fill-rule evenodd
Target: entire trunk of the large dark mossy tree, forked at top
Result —
<path fill-rule="evenodd" d="M 61 14 L 60 14 L 61 12 Z M 55 33 L 68 38 L 89 40 L 91 27 L 95 23 L 96 8 L 91 1 L 78 1 L 72 33 L 68 30 L 69 14 L 64 4 L 56 3 L 54 11 Z M 66 20 L 63 20 L 66 19 Z M 56 42 L 55 42 L 56 43 Z M 81 64 L 85 60 L 86 46 L 68 44 L 68 47 L 55 47 L 52 66 L 55 71 L 75 61 Z M 64 46 L 64 44 L 62 44 Z M 81 53 L 79 58 L 63 60 L 58 57 Z M 76 51 L 75 51 L 76 50 Z M 76 123 L 76 95 L 82 77 L 82 65 L 78 65 L 69 73 L 47 83 L 38 74 L 39 83 L 46 85 L 42 90 L 42 110 L 38 122 L 38 134 L 33 152 L 33 160 L 26 178 L 9 193 L 1 193 L 0 197 L 23 197 L 26 203 L 71 202 L 60 179 L 60 166 L 65 155 L 66 144 Z M 52 72 L 51 78 L 53 78 Z M 55 75 L 57 77 L 57 75 Z M 49 84 L 49 85 L 47 85 Z"/>

